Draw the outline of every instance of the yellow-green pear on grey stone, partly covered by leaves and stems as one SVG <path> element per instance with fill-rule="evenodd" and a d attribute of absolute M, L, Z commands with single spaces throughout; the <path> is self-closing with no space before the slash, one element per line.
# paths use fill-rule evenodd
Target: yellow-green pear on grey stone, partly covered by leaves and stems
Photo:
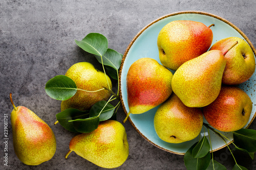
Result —
<path fill-rule="evenodd" d="M 112 82 L 109 76 L 105 76 L 104 72 L 97 70 L 88 62 L 79 62 L 72 65 L 65 76 L 71 78 L 79 89 L 95 91 L 103 87 L 108 88 L 108 82 L 110 89 L 112 89 Z M 108 79 L 108 82 L 106 79 Z M 61 111 L 68 108 L 89 110 L 95 103 L 108 100 L 109 97 L 110 92 L 108 90 L 100 90 L 97 92 L 77 90 L 72 98 L 61 102 Z"/>

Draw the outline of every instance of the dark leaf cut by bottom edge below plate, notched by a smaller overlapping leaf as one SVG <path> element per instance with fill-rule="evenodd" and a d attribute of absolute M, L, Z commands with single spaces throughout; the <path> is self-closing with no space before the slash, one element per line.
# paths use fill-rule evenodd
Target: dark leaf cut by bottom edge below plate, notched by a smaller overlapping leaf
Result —
<path fill-rule="evenodd" d="M 192 151 L 196 147 L 198 142 L 196 142 L 192 147 L 190 147 L 184 155 L 184 163 L 188 170 L 204 170 L 208 167 L 210 163 L 210 152 L 208 152 L 202 158 L 194 158 L 192 156 Z"/>

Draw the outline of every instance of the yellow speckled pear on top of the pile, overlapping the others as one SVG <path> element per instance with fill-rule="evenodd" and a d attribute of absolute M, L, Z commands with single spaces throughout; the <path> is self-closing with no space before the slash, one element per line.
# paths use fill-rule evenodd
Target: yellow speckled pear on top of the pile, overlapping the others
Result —
<path fill-rule="evenodd" d="M 226 60 L 219 50 L 212 50 L 182 64 L 175 72 L 172 88 L 188 107 L 204 107 L 221 90 Z"/>

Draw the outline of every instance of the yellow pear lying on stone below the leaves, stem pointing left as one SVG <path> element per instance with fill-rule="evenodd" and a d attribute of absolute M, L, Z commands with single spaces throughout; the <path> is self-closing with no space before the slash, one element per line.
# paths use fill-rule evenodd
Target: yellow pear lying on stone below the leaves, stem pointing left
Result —
<path fill-rule="evenodd" d="M 116 120 L 100 122 L 90 133 L 82 133 L 72 138 L 70 151 L 104 168 L 122 165 L 129 155 L 129 144 L 123 125 Z"/>

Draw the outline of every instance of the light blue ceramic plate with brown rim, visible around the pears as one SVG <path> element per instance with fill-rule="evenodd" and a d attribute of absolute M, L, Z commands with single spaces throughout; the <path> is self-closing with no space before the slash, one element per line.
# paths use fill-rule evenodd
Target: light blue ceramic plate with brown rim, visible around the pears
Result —
<path fill-rule="evenodd" d="M 239 30 L 236 26 L 234 26 L 229 21 L 210 14 L 206 12 L 199 12 L 199 11 L 182 11 L 177 13 L 172 13 L 165 15 L 150 24 L 144 27 L 131 41 L 129 46 L 127 47 L 123 60 L 120 67 L 119 72 L 119 83 L 120 83 L 120 96 L 121 96 L 121 103 L 125 114 L 129 112 L 129 107 L 127 104 L 127 91 L 126 91 L 126 75 L 127 71 L 129 70 L 131 64 L 138 60 L 139 58 L 153 58 L 157 60 L 159 63 L 159 56 L 158 56 L 158 48 L 157 48 L 157 36 L 160 30 L 170 21 L 173 20 L 194 20 L 204 23 L 204 25 L 209 26 L 212 23 L 215 24 L 215 27 L 211 27 L 214 34 L 214 39 L 212 40 L 212 44 L 216 41 L 226 38 L 226 37 L 240 37 L 245 39 L 247 43 L 251 46 L 254 56 L 256 54 L 255 48 L 253 47 L 252 43 L 249 39 L 244 35 L 244 33 Z M 174 71 L 172 71 L 174 73 Z M 256 98 L 255 98 L 255 89 L 256 89 L 256 75 L 254 74 L 248 81 L 241 84 L 239 87 L 242 88 L 251 98 L 253 102 L 252 113 L 250 119 L 245 126 L 251 124 L 252 120 L 255 117 L 256 111 Z M 159 107 L 159 106 L 158 106 Z M 130 114 L 129 121 L 135 130 L 147 141 L 155 145 L 156 147 L 165 150 L 167 152 L 175 153 L 184 155 L 185 152 L 193 145 L 196 141 L 199 140 L 200 137 L 204 135 L 204 129 L 202 129 L 201 134 L 194 140 L 186 141 L 183 143 L 167 143 L 161 140 L 155 132 L 154 129 L 154 115 L 158 107 L 151 109 L 142 114 Z M 205 123 L 206 120 L 204 120 Z M 205 128 L 206 132 L 207 129 Z M 233 140 L 232 133 L 224 133 L 230 140 Z M 210 134 L 206 133 L 206 135 L 210 135 L 212 150 L 217 151 L 223 147 L 225 147 L 225 142 L 215 133 L 210 131 Z M 230 141 L 227 140 L 227 143 Z"/>

